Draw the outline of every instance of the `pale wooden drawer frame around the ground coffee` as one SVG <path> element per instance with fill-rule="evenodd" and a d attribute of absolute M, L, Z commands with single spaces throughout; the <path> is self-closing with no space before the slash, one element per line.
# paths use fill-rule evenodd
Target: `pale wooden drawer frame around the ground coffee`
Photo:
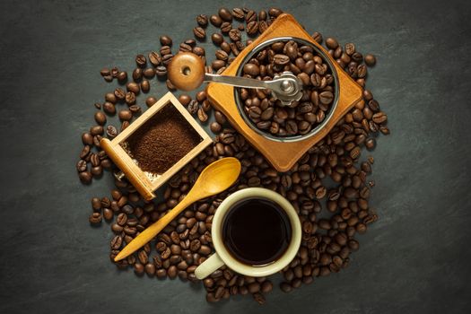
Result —
<path fill-rule="evenodd" d="M 201 136 L 202 140 L 197 144 L 191 151 L 188 152 L 182 159 L 170 167 L 169 170 L 166 170 L 161 174 L 160 177 L 156 179 L 149 179 L 143 170 L 135 164 L 135 161 L 126 153 L 123 147 L 120 145 L 123 142 L 126 142 L 126 139 L 132 135 L 135 130 L 143 126 L 144 123 L 153 117 L 156 113 L 159 112 L 166 105 L 173 105 L 176 109 L 179 110 L 179 113 L 188 121 L 190 126 L 192 126 L 196 132 Z M 103 150 L 109 155 L 109 158 L 116 163 L 118 168 L 123 171 L 135 189 L 146 199 L 151 200 L 155 197 L 153 191 L 157 188 L 160 188 L 168 179 L 171 178 L 175 173 L 177 173 L 183 166 L 185 166 L 189 161 L 196 157 L 198 153 L 201 153 L 205 147 L 211 144 L 213 140 L 205 132 L 203 127 L 201 127 L 188 113 L 188 110 L 183 107 L 179 100 L 173 96 L 171 92 L 167 92 L 160 100 L 158 100 L 150 109 L 147 109 L 144 114 L 137 118 L 131 125 L 127 126 L 126 129 L 116 136 L 112 141 L 109 141 L 108 138 L 101 139 L 101 146 Z"/>

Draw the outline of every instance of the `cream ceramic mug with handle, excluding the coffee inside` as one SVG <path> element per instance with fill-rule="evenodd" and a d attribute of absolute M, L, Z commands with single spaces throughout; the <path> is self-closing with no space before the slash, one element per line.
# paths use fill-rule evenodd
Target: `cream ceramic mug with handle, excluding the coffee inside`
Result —
<path fill-rule="evenodd" d="M 222 224 L 225 215 L 229 213 L 233 205 L 248 198 L 265 198 L 275 202 L 275 204 L 283 209 L 290 220 L 292 235 L 288 248 L 281 257 L 278 257 L 275 261 L 267 265 L 252 266 L 240 262 L 237 258 L 231 256 L 231 253 L 226 249 L 222 240 Z M 275 274 L 282 270 L 284 266 L 290 264 L 292 259 L 296 256 L 301 245 L 301 222 L 290 202 L 280 194 L 266 188 L 244 188 L 228 196 L 222 201 L 221 205 L 219 205 L 216 214 L 214 214 L 211 235 L 216 252 L 196 268 L 196 278 L 203 279 L 223 265 L 230 267 L 232 270 L 242 275 L 262 277 Z"/>

